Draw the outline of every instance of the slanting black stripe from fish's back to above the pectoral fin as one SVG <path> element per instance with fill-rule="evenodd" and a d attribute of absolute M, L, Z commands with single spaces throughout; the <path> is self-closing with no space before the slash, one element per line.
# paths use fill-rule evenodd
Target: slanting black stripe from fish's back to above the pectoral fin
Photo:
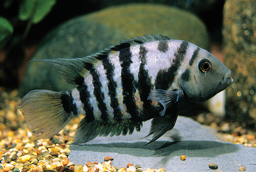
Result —
<path fill-rule="evenodd" d="M 175 76 L 177 76 L 177 71 L 181 66 L 184 56 L 186 54 L 188 42 L 182 41 L 180 47 L 177 48 L 173 59 L 173 65 L 168 68 L 168 70 L 159 70 L 156 77 L 156 89 L 167 90 L 170 85 L 172 85 Z"/>

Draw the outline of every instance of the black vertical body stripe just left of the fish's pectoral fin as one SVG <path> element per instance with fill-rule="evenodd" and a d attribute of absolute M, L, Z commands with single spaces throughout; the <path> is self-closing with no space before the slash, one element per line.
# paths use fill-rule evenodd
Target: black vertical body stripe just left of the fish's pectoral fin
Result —
<path fill-rule="evenodd" d="M 140 100 L 143 102 L 143 119 L 147 120 L 152 117 L 154 117 L 156 111 L 155 108 L 151 105 L 151 102 L 149 99 L 147 99 L 148 94 L 151 92 L 151 82 L 148 82 L 149 76 L 148 71 L 145 70 L 146 65 L 146 48 L 143 46 L 140 46 L 140 52 L 139 52 L 139 58 L 140 58 L 140 69 L 138 73 L 138 85 L 140 88 Z"/>

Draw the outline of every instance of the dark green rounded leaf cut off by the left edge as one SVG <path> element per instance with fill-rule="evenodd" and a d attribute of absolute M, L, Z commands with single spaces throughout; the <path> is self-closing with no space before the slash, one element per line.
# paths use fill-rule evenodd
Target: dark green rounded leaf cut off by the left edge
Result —
<path fill-rule="evenodd" d="M 8 19 L 0 16 L 0 50 L 4 48 L 6 42 L 11 38 L 13 26 Z"/>

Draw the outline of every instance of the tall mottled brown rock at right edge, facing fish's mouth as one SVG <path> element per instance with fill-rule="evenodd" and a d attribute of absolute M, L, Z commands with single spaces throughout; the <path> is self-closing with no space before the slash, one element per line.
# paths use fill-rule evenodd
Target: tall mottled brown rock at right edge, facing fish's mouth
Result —
<path fill-rule="evenodd" d="M 256 121 L 256 1 L 227 0 L 224 6 L 225 64 L 234 82 L 227 89 L 227 116 L 244 126 Z"/>

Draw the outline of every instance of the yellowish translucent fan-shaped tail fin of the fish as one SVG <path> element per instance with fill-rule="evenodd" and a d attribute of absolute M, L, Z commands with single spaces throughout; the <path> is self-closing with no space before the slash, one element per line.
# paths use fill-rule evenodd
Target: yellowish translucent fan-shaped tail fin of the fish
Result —
<path fill-rule="evenodd" d="M 65 92 L 33 90 L 18 104 L 29 130 L 37 138 L 51 138 L 74 117 L 63 109 Z"/>

